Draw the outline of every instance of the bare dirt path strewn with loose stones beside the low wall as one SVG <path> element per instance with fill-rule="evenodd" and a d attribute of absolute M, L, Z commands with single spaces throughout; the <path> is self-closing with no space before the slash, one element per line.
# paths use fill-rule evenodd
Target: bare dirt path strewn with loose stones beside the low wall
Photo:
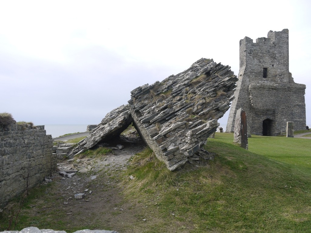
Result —
<path fill-rule="evenodd" d="M 66 222 L 67 229 L 105 229 L 118 232 L 140 232 L 133 229 L 144 218 L 137 213 L 137 205 L 132 208 L 130 201 L 124 200 L 119 177 L 126 169 L 130 158 L 141 152 L 145 144 L 123 144 L 122 150 L 114 150 L 100 158 L 71 159 L 58 163 L 59 171 L 80 170 L 72 178 L 55 174 L 46 198 L 35 200 L 31 215 L 42 216 L 54 212 L 54 221 Z M 130 178 L 128 178 L 130 181 Z M 83 199 L 75 199 L 75 194 L 83 193 Z M 46 212 L 46 213 L 45 213 Z M 107 229 L 108 228 L 108 229 Z M 61 229 L 57 229 L 61 230 Z M 70 232 L 70 231 L 68 231 Z"/>

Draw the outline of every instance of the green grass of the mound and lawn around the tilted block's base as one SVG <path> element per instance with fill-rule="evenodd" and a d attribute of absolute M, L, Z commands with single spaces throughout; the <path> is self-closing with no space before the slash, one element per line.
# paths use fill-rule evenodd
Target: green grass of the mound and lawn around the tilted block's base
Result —
<path fill-rule="evenodd" d="M 147 206 L 146 232 L 311 232 L 310 141 L 254 136 L 250 151 L 232 142 L 216 133 L 214 161 L 176 172 L 144 162 L 148 151 L 133 159 L 125 194 Z"/>

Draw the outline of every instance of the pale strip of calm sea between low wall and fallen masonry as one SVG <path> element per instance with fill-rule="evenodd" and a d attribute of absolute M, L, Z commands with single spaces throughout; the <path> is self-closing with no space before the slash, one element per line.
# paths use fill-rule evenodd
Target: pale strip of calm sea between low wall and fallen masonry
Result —
<path fill-rule="evenodd" d="M 57 138 L 64 134 L 82 133 L 86 131 L 87 125 L 44 125 L 47 135 Z"/>

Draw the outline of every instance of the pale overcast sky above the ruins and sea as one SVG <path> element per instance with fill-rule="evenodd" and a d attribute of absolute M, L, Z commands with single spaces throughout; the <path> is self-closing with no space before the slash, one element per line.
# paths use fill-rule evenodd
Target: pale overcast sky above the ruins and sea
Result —
<path fill-rule="evenodd" d="M 0 112 L 35 125 L 98 124 L 132 89 L 201 57 L 238 75 L 240 39 L 287 28 L 311 126 L 310 2 L 0 1 Z"/>

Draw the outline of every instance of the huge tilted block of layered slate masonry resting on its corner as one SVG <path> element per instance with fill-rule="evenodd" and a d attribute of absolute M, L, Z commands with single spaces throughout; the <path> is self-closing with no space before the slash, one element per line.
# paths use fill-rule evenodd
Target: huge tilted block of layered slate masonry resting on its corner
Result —
<path fill-rule="evenodd" d="M 131 92 L 135 127 L 169 170 L 184 164 L 216 131 L 236 81 L 230 66 L 202 58 L 178 75 Z"/>

